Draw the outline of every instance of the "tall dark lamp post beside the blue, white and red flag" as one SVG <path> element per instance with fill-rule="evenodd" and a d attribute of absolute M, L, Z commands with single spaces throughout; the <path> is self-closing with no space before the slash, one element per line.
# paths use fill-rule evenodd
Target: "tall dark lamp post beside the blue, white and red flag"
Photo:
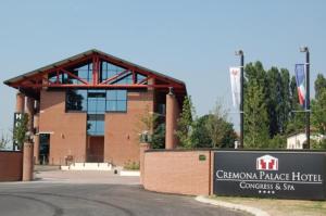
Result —
<path fill-rule="evenodd" d="M 305 52 L 305 136 L 310 149 L 310 52 L 308 47 L 300 47 L 300 52 Z"/>

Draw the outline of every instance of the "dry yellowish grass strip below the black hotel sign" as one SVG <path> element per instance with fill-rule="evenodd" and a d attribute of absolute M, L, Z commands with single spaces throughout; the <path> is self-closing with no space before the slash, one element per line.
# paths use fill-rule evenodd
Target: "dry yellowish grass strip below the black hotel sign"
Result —
<path fill-rule="evenodd" d="M 326 216 L 326 201 L 274 200 L 256 198 L 215 196 L 211 198 L 235 204 L 258 207 L 271 216 Z"/>

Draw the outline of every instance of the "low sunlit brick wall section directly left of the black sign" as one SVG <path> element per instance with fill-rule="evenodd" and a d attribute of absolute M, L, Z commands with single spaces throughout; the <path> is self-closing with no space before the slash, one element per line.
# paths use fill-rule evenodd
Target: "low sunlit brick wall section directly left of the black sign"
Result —
<path fill-rule="evenodd" d="M 199 155 L 205 161 L 199 161 Z M 146 152 L 143 187 L 165 193 L 210 194 L 210 151 Z"/>

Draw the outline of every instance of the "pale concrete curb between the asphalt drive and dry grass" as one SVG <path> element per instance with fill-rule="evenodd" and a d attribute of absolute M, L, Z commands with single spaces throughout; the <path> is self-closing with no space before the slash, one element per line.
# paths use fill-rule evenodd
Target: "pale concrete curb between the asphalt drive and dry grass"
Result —
<path fill-rule="evenodd" d="M 244 211 L 244 212 L 250 213 L 254 216 L 269 216 L 268 213 L 266 213 L 262 209 L 255 208 L 255 207 L 250 207 L 250 206 L 240 205 L 240 204 L 227 203 L 227 202 L 224 202 L 224 201 L 217 201 L 217 200 L 205 198 L 203 195 L 198 195 L 198 196 L 196 196 L 195 200 L 197 200 L 201 203 L 206 203 L 206 204 L 211 204 L 211 205 L 217 205 L 217 206 L 227 207 L 227 208 L 237 209 L 237 211 Z"/>

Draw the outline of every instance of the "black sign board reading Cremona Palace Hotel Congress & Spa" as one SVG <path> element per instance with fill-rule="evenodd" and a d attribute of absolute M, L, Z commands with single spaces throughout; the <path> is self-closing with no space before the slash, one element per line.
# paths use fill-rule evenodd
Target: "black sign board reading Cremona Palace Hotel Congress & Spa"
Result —
<path fill-rule="evenodd" d="M 214 194 L 326 199 L 326 152 L 214 152 Z"/>

